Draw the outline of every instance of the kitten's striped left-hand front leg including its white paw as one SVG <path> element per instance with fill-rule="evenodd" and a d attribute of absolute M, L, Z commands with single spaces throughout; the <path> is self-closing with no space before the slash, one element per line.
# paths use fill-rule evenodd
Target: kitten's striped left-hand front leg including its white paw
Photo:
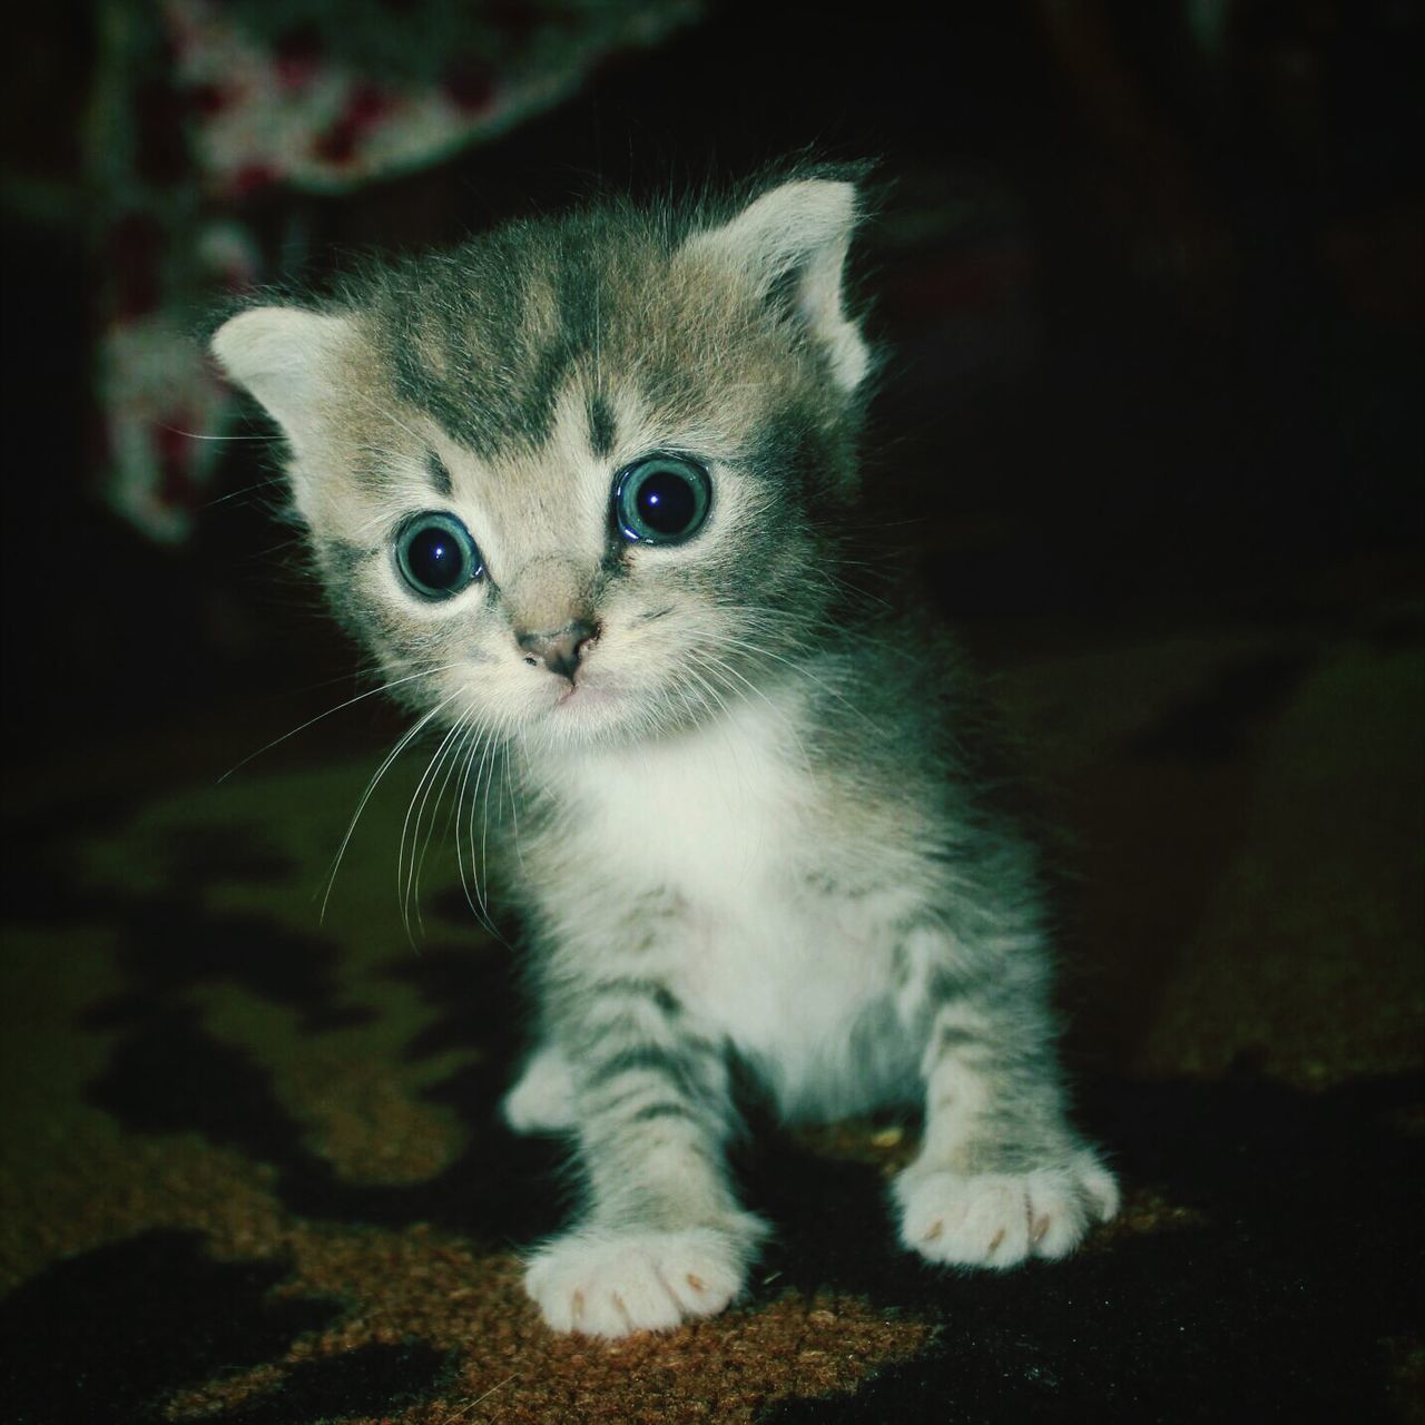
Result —
<path fill-rule="evenodd" d="M 560 1029 L 589 1200 L 579 1226 L 530 1258 L 526 1290 L 556 1331 L 600 1337 L 721 1311 L 765 1233 L 728 1183 L 721 1047 L 640 980 L 590 988 L 580 1022 Z"/>

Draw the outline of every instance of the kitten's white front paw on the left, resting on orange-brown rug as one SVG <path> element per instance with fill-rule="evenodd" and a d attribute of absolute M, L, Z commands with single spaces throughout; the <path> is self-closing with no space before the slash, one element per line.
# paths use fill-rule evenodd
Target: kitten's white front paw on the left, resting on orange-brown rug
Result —
<path fill-rule="evenodd" d="M 760 1230 L 581 1228 L 543 1247 L 524 1274 L 556 1331 L 623 1337 L 721 1311 L 741 1290 Z"/>

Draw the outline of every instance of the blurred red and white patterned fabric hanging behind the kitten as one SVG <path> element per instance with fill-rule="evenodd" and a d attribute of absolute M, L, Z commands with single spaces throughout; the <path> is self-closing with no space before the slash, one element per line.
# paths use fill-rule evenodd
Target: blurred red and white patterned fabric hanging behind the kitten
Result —
<path fill-rule="evenodd" d="M 256 204 L 286 195 L 282 241 L 299 242 L 298 195 L 449 160 L 697 13 L 697 0 L 98 4 L 84 178 L 114 507 L 172 543 L 211 494 L 232 400 L 194 333 L 225 299 L 289 275 L 254 229 Z"/>

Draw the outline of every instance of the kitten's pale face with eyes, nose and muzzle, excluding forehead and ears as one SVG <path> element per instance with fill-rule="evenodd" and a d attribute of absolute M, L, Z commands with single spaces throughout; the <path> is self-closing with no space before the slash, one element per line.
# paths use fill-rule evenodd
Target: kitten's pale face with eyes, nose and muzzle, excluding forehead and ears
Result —
<path fill-rule="evenodd" d="M 335 603 L 386 674 L 412 680 L 405 701 L 539 741 L 656 731 L 742 697 L 748 665 L 775 664 L 815 623 L 818 534 L 755 440 L 670 419 L 634 389 L 608 393 L 600 450 L 581 388 L 560 393 L 547 439 L 486 456 L 392 412 L 379 489 L 348 489 L 314 523 Z M 664 504 L 691 492 L 694 519 L 705 500 L 701 523 L 628 539 L 640 480 Z"/>

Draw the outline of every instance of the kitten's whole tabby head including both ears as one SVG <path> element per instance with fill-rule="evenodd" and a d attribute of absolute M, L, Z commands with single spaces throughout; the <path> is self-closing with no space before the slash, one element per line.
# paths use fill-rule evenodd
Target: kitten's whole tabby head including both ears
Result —
<path fill-rule="evenodd" d="M 848 182 L 516 224 L 214 338 L 343 621 L 415 707 L 657 735 L 822 637 L 868 353 Z"/>

